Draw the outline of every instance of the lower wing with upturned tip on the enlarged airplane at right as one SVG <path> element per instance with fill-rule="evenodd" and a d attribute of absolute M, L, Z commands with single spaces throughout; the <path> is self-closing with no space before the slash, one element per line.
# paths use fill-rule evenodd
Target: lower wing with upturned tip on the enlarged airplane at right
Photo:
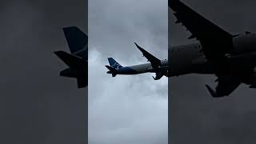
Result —
<path fill-rule="evenodd" d="M 206 88 L 209 90 L 210 94 L 217 98 L 228 96 L 231 94 L 237 87 L 242 83 L 242 80 L 239 78 L 218 78 L 218 85 L 215 90 L 210 86 L 206 85 Z"/>

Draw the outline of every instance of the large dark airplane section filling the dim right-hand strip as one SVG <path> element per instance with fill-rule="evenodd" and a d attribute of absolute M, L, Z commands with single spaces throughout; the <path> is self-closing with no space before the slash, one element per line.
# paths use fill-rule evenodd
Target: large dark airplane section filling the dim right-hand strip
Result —
<path fill-rule="evenodd" d="M 214 98 L 230 95 L 245 83 L 256 88 L 256 34 L 230 34 L 202 17 L 180 0 L 169 0 L 168 6 L 181 23 L 196 38 L 197 43 L 172 46 L 169 50 L 169 76 L 184 74 L 214 74 L 215 90 L 206 85 Z"/>

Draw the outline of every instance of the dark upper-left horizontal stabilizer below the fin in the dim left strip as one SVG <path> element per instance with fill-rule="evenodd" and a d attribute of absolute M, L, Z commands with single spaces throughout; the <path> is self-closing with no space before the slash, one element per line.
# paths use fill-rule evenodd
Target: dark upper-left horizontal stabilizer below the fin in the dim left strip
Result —
<path fill-rule="evenodd" d="M 83 62 L 81 58 L 78 58 L 72 54 L 68 54 L 62 50 L 55 51 L 54 54 L 56 54 L 58 58 L 61 58 L 62 61 L 71 68 L 78 68 L 78 66 L 81 66 L 81 63 Z"/>

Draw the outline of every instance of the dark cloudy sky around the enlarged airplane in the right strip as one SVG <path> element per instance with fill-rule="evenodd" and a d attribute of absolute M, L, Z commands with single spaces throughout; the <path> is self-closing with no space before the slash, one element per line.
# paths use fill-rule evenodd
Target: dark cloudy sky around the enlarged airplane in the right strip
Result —
<path fill-rule="evenodd" d="M 204 17 L 231 34 L 256 32 L 256 2 L 186 0 Z M 169 10 L 169 44 L 189 43 L 190 36 Z M 169 79 L 170 143 L 255 143 L 255 90 L 241 85 L 227 98 L 211 98 L 205 84 L 214 76 L 188 75 Z"/>

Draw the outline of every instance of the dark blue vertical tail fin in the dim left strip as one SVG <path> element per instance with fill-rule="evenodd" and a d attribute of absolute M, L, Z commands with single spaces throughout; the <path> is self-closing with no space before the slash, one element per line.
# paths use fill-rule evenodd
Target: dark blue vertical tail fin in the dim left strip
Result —
<path fill-rule="evenodd" d="M 78 55 L 82 58 L 87 58 L 88 37 L 79 30 L 76 26 L 69 26 L 63 28 L 66 41 L 70 47 L 71 54 Z"/>

